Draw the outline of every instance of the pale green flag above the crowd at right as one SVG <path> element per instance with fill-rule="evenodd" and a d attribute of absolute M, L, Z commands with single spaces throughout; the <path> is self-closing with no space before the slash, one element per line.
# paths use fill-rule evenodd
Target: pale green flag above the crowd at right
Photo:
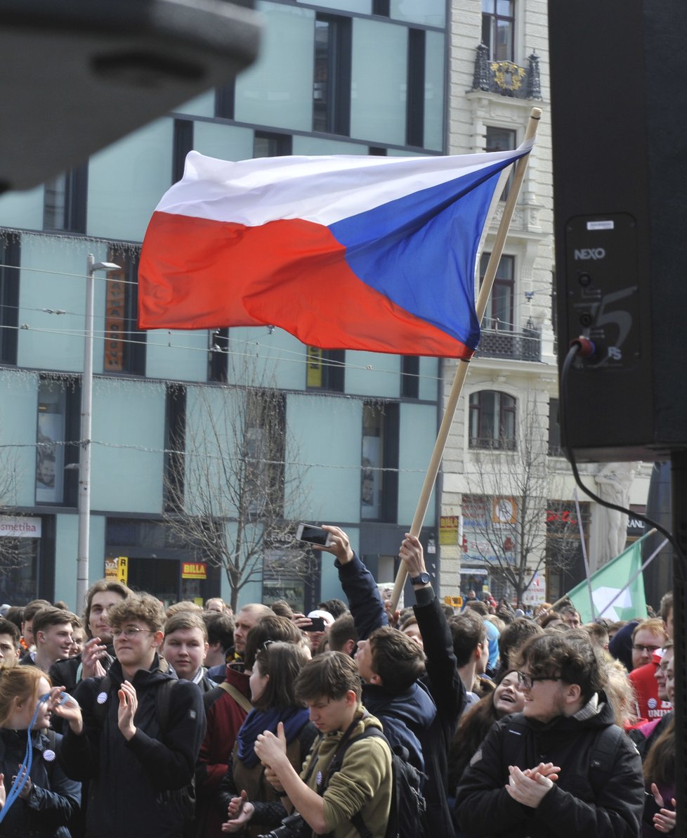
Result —
<path fill-rule="evenodd" d="M 596 614 L 591 613 L 586 579 L 568 592 L 572 604 L 580 612 L 582 623 L 591 623 L 595 617 L 606 617 L 614 622 L 647 617 L 644 579 L 638 572 L 642 566 L 643 538 L 591 574 L 591 597 Z M 633 582 L 628 584 L 631 579 Z"/>

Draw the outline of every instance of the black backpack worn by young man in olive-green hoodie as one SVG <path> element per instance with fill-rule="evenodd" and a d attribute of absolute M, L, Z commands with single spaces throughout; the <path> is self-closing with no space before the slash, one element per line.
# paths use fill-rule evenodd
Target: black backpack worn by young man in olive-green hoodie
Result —
<path fill-rule="evenodd" d="M 365 737 L 376 736 L 389 742 L 378 727 L 366 727 L 359 736 L 346 742 L 340 753 L 335 753 L 328 767 L 328 774 L 338 771 L 344 763 L 344 756 L 354 742 Z M 422 794 L 423 775 L 408 762 L 409 753 L 405 747 L 390 747 L 391 751 L 391 809 L 386 825 L 385 838 L 428 838 L 426 821 L 426 802 Z M 360 838 L 374 838 L 363 820 L 356 812 L 351 823 L 359 831 Z M 435 838 L 440 838 L 436 835 Z"/>

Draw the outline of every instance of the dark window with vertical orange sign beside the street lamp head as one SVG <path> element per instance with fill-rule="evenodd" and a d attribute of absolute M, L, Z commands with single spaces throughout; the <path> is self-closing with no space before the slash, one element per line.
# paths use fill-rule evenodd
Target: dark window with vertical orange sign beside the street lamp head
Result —
<path fill-rule="evenodd" d="M 146 374 L 146 333 L 137 329 L 138 252 L 112 247 L 108 261 L 121 270 L 108 271 L 105 292 L 106 373 Z"/>

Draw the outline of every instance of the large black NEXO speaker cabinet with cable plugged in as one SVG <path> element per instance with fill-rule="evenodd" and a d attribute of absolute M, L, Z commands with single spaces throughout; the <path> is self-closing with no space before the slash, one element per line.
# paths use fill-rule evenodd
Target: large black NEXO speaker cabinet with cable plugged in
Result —
<path fill-rule="evenodd" d="M 687 3 L 550 0 L 559 364 L 581 460 L 687 449 Z"/>

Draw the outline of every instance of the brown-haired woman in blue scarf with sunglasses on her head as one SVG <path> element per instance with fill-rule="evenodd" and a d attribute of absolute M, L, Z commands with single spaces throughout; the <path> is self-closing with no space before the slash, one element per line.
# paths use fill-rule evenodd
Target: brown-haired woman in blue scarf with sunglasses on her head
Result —
<path fill-rule="evenodd" d="M 265 825 L 278 826 L 286 814 L 281 789 L 273 787 L 266 778 L 254 745 L 258 734 L 266 730 L 276 735 L 281 722 L 289 759 L 297 771 L 301 770 L 318 733 L 313 722 L 308 721 L 307 708 L 296 700 L 295 694 L 296 677 L 308 660 L 301 646 L 269 640 L 256 654 L 251 674 L 255 709 L 240 728 L 220 784 L 220 805 L 229 814 L 229 820 L 222 825 L 223 832 L 240 832 L 248 825 L 246 834 L 252 838 L 264 832 Z"/>

